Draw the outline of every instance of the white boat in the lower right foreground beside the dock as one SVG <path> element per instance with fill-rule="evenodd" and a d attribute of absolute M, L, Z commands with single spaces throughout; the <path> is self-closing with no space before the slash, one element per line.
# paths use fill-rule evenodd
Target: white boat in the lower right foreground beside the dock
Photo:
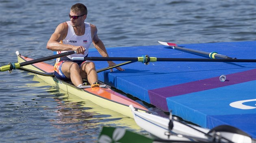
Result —
<path fill-rule="evenodd" d="M 245 132 L 228 125 L 217 126 L 213 129 L 201 128 L 178 121 L 140 112 L 130 105 L 135 122 L 152 135 L 164 140 L 199 141 L 199 142 L 228 142 L 253 143 L 254 139 Z"/>

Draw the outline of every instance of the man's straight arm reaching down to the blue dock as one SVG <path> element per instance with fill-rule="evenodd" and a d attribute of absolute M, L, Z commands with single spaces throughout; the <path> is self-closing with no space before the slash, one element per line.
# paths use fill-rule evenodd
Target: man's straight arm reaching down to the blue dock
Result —
<path fill-rule="evenodd" d="M 100 53 L 100 55 L 102 55 L 102 57 L 108 57 L 106 47 L 103 44 L 102 40 L 100 40 L 100 38 L 97 35 L 97 27 L 95 25 L 91 24 L 91 32 L 93 35 L 92 41 L 93 41 L 94 47 L 98 50 L 98 52 Z M 115 63 L 113 61 L 108 61 L 108 65 L 109 66 L 115 65 Z M 119 71 L 124 71 L 124 69 L 122 69 L 121 67 L 116 67 L 116 69 L 118 69 Z M 113 71 L 113 69 L 111 69 L 111 71 Z"/>

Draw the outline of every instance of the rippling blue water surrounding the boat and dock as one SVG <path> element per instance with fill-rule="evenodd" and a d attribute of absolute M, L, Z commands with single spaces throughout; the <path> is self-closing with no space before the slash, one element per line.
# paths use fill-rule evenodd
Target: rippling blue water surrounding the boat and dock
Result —
<path fill-rule="evenodd" d="M 106 47 L 256 40 L 256 0 L 0 0 L 0 65 L 16 62 L 16 50 L 34 59 L 52 55 L 46 43 L 77 2 L 87 5 L 87 22 Z M 132 119 L 32 74 L 0 73 L 1 142 L 96 142 L 102 126 L 148 135 Z"/>

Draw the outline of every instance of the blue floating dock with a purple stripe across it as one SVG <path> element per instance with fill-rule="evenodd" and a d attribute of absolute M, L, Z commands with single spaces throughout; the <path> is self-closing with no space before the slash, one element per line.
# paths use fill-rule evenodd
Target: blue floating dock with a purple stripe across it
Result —
<path fill-rule="evenodd" d="M 156 44 L 158 44 L 156 42 Z M 194 50 L 217 52 L 237 59 L 256 59 L 256 41 L 179 44 Z M 89 57 L 101 57 L 90 49 Z M 203 58 L 168 46 L 107 48 L 109 57 Z M 115 63 L 121 63 L 116 61 Z M 95 61 L 96 69 L 106 61 Z M 141 62 L 125 71 L 98 73 L 99 80 L 202 127 L 227 124 L 256 138 L 256 63 Z M 226 81 L 219 77 L 226 75 Z"/>

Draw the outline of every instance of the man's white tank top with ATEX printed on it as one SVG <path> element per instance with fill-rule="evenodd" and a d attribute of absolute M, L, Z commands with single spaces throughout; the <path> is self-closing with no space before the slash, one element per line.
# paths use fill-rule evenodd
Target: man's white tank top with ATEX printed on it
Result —
<path fill-rule="evenodd" d="M 67 36 L 61 42 L 63 44 L 69 44 L 74 46 L 84 46 L 85 47 L 85 55 L 83 54 L 72 54 L 67 56 L 69 59 L 72 57 L 86 57 L 88 55 L 89 47 L 91 46 L 91 26 L 90 23 L 85 22 L 85 34 L 82 36 L 77 36 L 74 27 L 72 27 L 71 21 L 67 21 L 68 31 Z M 70 51 L 70 50 L 69 50 Z M 57 54 L 65 53 L 65 51 L 58 51 Z M 60 58 L 56 59 L 56 62 L 59 62 Z"/>

